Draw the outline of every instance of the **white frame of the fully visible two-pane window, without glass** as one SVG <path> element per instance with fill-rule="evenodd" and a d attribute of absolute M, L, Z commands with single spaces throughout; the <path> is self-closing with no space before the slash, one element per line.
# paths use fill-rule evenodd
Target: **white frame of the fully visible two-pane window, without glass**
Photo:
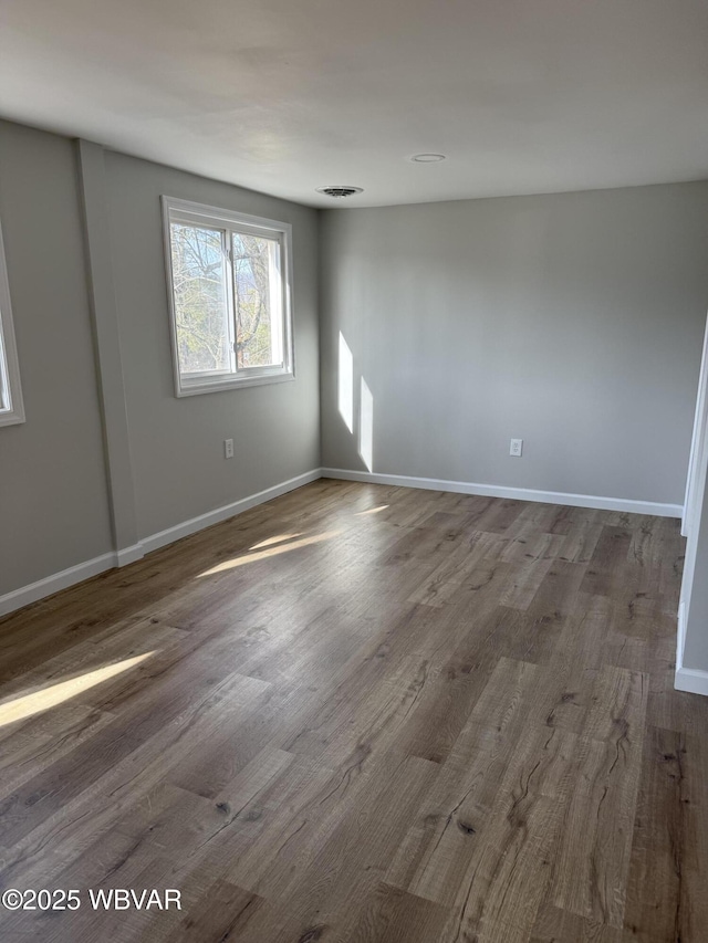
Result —
<path fill-rule="evenodd" d="M 293 312 L 292 312 L 292 227 L 248 213 L 218 209 L 191 200 L 180 200 L 176 197 L 162 198 L 163 203 L 163 238 L 165 243 L 165 265 L 167 271 L 167 295 L 169 305 L 169 327 L 173 347 L 173 371 L 175 375 L 175 396 L 195 396 L 205 392 L 216 392 L 238 387 L 260 386 L 293 380 L 295 378 Z M 262 235 L 280 243 L 282 265 L 282 349 L 283 363 L 268 367 L 241 367 L 236 373 L 202 371 L 184 374 L 179 367 L 179 345 L 177 335 L 177 316 L 175 312 L 175 287 L 173 281 L 171 231 L 170 222 L 204 224 L 217 229 L 242 232 L 248 235 Z M 229 279 L 231 281 L 231 279 Z M 228 291 L 229 316 L 233 317 L 232 289 Z"/>

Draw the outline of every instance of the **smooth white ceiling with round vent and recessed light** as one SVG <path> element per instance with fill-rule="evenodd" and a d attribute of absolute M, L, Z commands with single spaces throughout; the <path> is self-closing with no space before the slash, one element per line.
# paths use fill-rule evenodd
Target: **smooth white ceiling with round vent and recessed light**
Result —
<path fill-rule="evenodd" d="M 0 115 L 312 206 L 695 180 L 708 0 L 0 0 Z"/>

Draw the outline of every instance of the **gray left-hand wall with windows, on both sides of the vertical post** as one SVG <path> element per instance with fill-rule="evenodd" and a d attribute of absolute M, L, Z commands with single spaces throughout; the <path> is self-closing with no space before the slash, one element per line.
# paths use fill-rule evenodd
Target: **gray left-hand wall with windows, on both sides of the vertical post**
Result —
<path fill-rule="evenodd" d="M 27 411 L 24 425 L 0 429 L 0 596 L 114 548 L 77 169 L 74 142 L 0 122 L 0 221 Z M 317 214 L 112 153 L 105 186 L 110 238 L 92 249 L 113 268 L 145 537 L 319 468 Z M 162 193 L 292 223 L 293 383 L 175 398 Z"/>

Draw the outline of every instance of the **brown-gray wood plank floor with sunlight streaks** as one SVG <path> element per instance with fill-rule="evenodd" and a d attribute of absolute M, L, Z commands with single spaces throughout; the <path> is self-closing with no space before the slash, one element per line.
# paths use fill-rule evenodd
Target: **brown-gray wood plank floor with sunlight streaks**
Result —
<path fill-rule="evenodd" d="M 320 481 L 0 624 L 0 939 L 702 943 L 678 522 Z M 88 889 L 178 889 L 96 911 Z"/>

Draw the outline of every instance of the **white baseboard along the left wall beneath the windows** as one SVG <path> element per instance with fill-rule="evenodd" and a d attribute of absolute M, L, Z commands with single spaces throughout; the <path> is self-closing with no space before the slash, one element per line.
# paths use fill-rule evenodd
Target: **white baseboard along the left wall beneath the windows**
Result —
<path fill-rule="evenodd" d="M 100 573 L 112 569 L 114 566 L 126 566 L 129 563 L 134 563 L 150 551 L 164 547 L 180 539 L 180 537 L 187 537 L 189 534 L 195 534 L 197 531 L 210 527 L 212 524 L 228 521 L 229 517 L 235 517 L 237 514 L 248 511 L 249 507 L 254 507 L 257 504 L 262 504 L 266 501 L 285 494 L 288 491 L 293 491 L 295 488 L 301 488 L 303 484 L 316 481 L 321 476 L 320 469 L 313 469 L 310 472 L 305 472 L 305 474 L 283 481 L 273 488 L 259 491 L 258 494 L 251 494 L 240 501 L 235 501 L 232 504 L 217 507 L 216 511 L 209 511 L 207 514 L 200 514 L 198 517 L 192 517 L 189 521 L 177 524 L 175 527 L 168 527 L 166 531 L 153 534 L 132 547 L 103 554 L 85 563 L 71 566 L 69 569 L 63 569 L 61 573 L 46 576 L 44 579 L 38 579 L 37 583 L 31 583 L 29 586 L 13 589 L 11 593 L 0 596 L 0 616 L 7 616 L 9 612 L 14 612 L 17 609 L 29 606 L 31 603 L 37 603 L 46 596 L 52 596 L 54 593 L 67 589 L 77 583 L 83 583 L 84 579 L 97 576 Z"/>

